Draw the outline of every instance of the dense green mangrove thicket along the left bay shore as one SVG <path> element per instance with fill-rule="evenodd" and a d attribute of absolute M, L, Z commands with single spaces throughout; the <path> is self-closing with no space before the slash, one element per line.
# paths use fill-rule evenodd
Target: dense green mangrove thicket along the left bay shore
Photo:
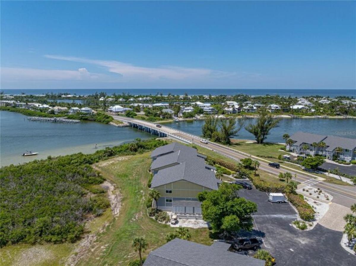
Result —
<path fill-rule="evenodd" d="M 2 167 L 1 246 L 77 240 L 88 215 L 100 216 L 109 207 L 105 191 L 94 186 L 104 179 L 90 165 L 163 144 L 166 142 L 153 139 L 136 141 L 94 154 L 78 153 Z"/>

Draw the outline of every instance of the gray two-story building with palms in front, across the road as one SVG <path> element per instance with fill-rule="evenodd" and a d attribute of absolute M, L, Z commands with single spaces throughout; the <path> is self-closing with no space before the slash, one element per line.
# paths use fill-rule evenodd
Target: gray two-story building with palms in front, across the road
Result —
<path fill-rule="evenodd" d="M 327 160 L 343 160 L 351 161 L 356 159 L 356 139 L 341 138 L 328 135 L 319 135 L 306 132 L 294 133 L 291 137 L 293 144 L 287 144 L 287 150 L 296 154 L 304 155 L 322 155 Z M 317 143 L 317 147 L 313 147 L 312 144 Z M 320 143 L 324 143 L 325 147 L 319 147 Z M 303 146 L 306 145 L 307 149 Z M 341 148 L 341 150 L 339 150 Z"/>

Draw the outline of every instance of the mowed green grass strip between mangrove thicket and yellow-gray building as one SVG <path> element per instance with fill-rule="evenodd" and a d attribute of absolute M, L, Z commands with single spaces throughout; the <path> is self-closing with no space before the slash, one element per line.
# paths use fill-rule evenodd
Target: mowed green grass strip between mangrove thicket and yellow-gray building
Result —
<path fill-rule="evenodd" d="M 109 160 L 96 165 L 107 180 L 120 188 L 122 206 L 119 216 L 99 236 L 98 245 L 79 261 L 79 265 L 127 265 L 130 260 L 138 258 L 138 253 L 131 248 L 136 236 L 147 239 L 148 249 L 143 256 L 166 243 L 166 234 L 174 229 L 147 215 L 145 202 L 149 192 L 147 182 L 151 175 L 148 172 L 150 164 L 150 154 L 145 153 L 118 162 L 110 163 Z M 190 232 L 192 241 L 211 244 L 208 229 L 190 229 Z"/>

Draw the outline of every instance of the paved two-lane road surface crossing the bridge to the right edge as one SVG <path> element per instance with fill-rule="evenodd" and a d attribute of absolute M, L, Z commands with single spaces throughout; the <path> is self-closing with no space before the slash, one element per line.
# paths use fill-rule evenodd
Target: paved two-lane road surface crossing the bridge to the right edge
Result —
<path fill-rule="evenodd" d="M 328 191 L 329 193 L 331 193 L 331 195 L 334 196 L 333 202 L 338 203 L 340 205 L 350 207 L 353 203 L 356 202 L 356 186 L 340 186 L 340 185 L 321 182 L 320 180 L 317 180 L 319 178 L 318 176 L 306 173 L 302 169 L 299 171 L 299 170 L 288 168 L 287 165 L 281 165 L 280 169 L 275 169 L 268 166 L 268 160 L 257 158 L 255 156 L 248 155 L 246 153 L 242 153 L 240 151 L 231 149 L 221 144 L 210 143 L 210 142 L 208 144 L 203 144 L 200 142 L 201 138 L 198 136 L 183 131 L 179 131 L 177 129 L 173 129 L 164 125 L 162 125 L 161 128 L 157 128 L 155 123 L 149 121 L 142 121 L 142 120 L 137 120 L 129 117 L 122 117 L 122 116 L 113 116 L 113 117 L 121 121 L 136 122 L 143 126 L 155 128 L 173 137 L 175 136 L 178 138 L 182 138 L 188 141 L 189 143 L 194 143 L 200 145 L 201 147 L 214 150 L 222 155 L 225 155 L 237 161 L 247 157 L 251 157 L 252 159 L 257 159 L 260 162 L 260 167 L 259 167 L 260 169 L 275 175 L 278 175 L 280 172 L 282 173 L 290 172 L 293 175 L 292 178 L 293 180 L 296 180 L 298 182 L 306 182 L 307 185 L 313 184 L 313 186 L 315 187 L 320 187 L 321 189 Z M 294 177 L 295 174 L 297 174 L 297 178 Z"/>

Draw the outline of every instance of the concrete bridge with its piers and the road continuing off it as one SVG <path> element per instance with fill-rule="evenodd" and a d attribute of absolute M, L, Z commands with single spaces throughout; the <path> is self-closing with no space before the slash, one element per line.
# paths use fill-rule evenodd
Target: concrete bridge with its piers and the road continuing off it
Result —
<path fill-rule="evenodd" d="M 253 160 L 258 160 L 260 162 L 259 169 L 269 172 L 273 175 L 278 175 L 280 172 L 290 172 L 293 176 L 293 180 L 301 182 L 302 184 L 308 186 L 311 182 L 313 186 L 320 187 L 323 190 L 329 191 L 333 196 L 333 202 L 344 205 L 346 207 L 350 207 L 352 203 L 356 201 L 356 186 L 341 186 L 334 185 L 330 183 L 323 182 L 325 179 L 305 172 L 300 168 L 300 170 L 293 169 L 288 166 L 288 163 L 281 164 L 281 168 L 275 169 L 268 166 L 267 159 L 259 158 L 257 156 L 253 156 L 251 154 L 247 154 L 241 151 L 237 151 L 232 149 L 226 145 L 221 145 L 218 143 L 209 142 L 208 144 L 201 143 L 201 137 L 178 130 L 173 129 L 168 126 L 164 126 L 163 124 L 160 127 L 157 127 L 157 123 L 153 123 L 150 121 L 143 121 L 139 119 L 134 119 L 130 117 L 123 116 L 112 116 L 114 119 L 129 124 L 133 128 L 141 129 L 144 132 L 158 135 L 159 137 L 168 137 L 174 140 L 178 140 L 180 142 L 184 142 L 187 144 L 194 144 L 201 146 L 203 148 L 215 151 L 223 156 L 229 157 L 233 160 L 239 161 L 244 158 L 251 158 Z M 296 176 L 296 177 L 295 177 Z M 298 186 L 299 187 L 299 186 Z"/>

